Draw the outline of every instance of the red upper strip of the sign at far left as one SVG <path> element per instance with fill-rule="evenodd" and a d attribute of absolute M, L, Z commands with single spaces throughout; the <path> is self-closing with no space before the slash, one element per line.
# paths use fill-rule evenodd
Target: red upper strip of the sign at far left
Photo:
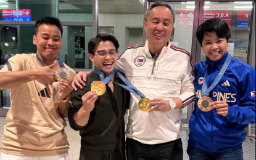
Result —
<path fill-rule="evenodd" d="M 26 17 L 31 16 L 31 9 L 3 9 L 2 17 Z"/>

